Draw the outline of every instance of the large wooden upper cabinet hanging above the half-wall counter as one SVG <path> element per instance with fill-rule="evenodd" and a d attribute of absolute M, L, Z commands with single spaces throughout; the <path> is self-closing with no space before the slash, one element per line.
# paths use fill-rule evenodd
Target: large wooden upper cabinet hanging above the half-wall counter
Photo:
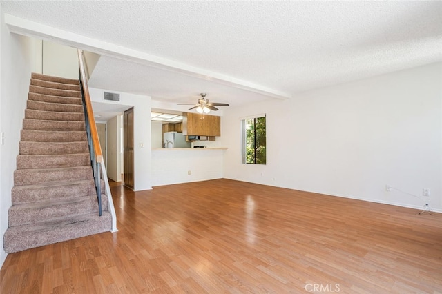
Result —
<path fill-rule="evenodd" d="M 221 117 L 184 112 L 182 115 L 182 135 L 220 136 Z"/>

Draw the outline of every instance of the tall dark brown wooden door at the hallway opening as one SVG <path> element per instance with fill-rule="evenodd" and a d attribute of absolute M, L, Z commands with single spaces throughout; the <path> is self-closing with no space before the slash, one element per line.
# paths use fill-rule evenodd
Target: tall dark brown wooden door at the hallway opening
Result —
<path fill-rule="evenodd" d="M 123 115 L 124 132 L 124 186 L 133 189 L 133 108 L 126 110 Z"/>

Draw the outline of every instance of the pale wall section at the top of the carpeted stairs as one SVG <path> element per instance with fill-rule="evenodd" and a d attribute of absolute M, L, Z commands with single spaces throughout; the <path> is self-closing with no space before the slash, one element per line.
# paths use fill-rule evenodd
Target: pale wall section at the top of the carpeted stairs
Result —
<path fill-rule="evenodd" d="M 43 74 L 78 79 L 77 49 L 43 41 Z"/>

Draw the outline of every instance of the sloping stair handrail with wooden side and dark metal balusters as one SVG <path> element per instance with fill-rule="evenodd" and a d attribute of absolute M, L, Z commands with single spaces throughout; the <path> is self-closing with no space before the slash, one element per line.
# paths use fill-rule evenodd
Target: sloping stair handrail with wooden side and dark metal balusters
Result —
<path fill-rule="evenodd" d="M 99 145 L 97 126 L 93 114 L 92 104 L 90 103 L 90 95 L 88 88 L 88 80 L 86 78 L 86 66 L 84 64 L 83 50 L 78 49 L 79 61 L 79 79 L 81 86 L 81 96 L 83 98 L 84 116 L 86 121 L 86 133 L 88 135 L 88 145 L 90 153 L 90 164 L 92 166 L 95 190 L 97 190 L 98 213 L 102 216 L 102 191 L 100 166 L 103 161 L 102 148 Z"/>

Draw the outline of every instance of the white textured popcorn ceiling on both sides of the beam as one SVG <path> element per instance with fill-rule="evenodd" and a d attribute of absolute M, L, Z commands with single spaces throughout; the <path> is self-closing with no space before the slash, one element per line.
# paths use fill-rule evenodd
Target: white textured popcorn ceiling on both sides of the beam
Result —
<path fill-rule="evenodd" d="M 272 96 L 241 87 L 248 83 L 294 97 L 442 61 L 442 1 L 1 1 L 1 8 L 189 66 L 183 73 L 104 52 L 90 80 L 174 103 L 199 92 L 233 106 Z"/>

